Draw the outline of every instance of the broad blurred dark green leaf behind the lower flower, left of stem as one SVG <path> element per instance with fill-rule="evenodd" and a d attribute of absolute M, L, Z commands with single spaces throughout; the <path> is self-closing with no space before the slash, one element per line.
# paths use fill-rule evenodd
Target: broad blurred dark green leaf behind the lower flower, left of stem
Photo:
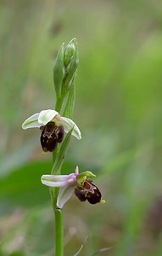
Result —
<path fill-rule="evenodd" d="M 66 162 L 66 170 L 72 169 L 74 164 Z M 38 206 L 50 200 L 49 190 L 41 183 L 42 174 L 49 174 L 51 171 L 51 162 L 35 161 L 19 169 L 14 169 L 8 177 L 0 180 L 0 211 L 6 210 L 6 202 L 9 207 L 20 205 L 23 207 Z M 68 174 L 68 173 L 67 173 Z M 3 207 L 2 207 L 3 205 Z"/>

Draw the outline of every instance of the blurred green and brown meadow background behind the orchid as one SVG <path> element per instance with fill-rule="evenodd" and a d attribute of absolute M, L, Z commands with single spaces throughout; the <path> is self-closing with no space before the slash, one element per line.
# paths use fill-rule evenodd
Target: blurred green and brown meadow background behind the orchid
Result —
<path fill-rule="evenodd" d="M 53 255 L 53 210 L 40 182 L 51 155 L 40 131 L 21 124 L 54 108 L 53 61 L 74 37 L 82 139 L 71 139 L 63 172 L 95 172 L 107 203 L 67 203 L 65 255 L 81 244 L 83 256 L 162 255 L 162 2 L 2 0 L 0 24 L 0 255 Z"/>

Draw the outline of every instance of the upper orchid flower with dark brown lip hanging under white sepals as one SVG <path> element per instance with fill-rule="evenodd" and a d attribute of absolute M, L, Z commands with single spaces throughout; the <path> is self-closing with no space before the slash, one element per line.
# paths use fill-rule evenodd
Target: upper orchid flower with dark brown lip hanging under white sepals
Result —
<path fill-rule="evenodd" d="M 56 110 L 47 109 L 40 113 L 34 113 L 22 124 L 24 130 L 28 128 L 40 128 L 42 130 L 41 144 L 42 149 L 53 152 L 58 143 L 64 138 L 64 132 L 71 129 L 72 135 L 78 140 L 81 139 L 81 131 L 75 123 L 66 117 L 62 117 Z"/>

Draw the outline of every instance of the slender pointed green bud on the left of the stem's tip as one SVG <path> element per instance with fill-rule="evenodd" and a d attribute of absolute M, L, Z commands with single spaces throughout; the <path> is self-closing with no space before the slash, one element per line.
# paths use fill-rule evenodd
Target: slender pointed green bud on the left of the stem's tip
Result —
<path fill-rule="evenodd" d="M 53 82 L 56 96 L 61 96 L 62 82 L 64 79 L 64 44 L 61 45 L 53 67 Z"/>

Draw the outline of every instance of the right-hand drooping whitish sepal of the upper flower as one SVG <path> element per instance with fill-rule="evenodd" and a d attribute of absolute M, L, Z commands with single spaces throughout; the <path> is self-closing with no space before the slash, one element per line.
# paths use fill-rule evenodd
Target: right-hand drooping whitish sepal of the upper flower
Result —
<path fill-rule="evenodd" d="M 75 123 L 71 119 L 61 117 L 59 123 L 64 126 L 64 131 L 66 133 L 68 133 L 68 131 L 70 131 L 70 129 L 74 127 L 74 129 L 72 131 L 72 135 L 74 137 L 76 137 L 78 140 L 81 140 L 81 131 L 79 130 L 78 126 L 75 125 Z"/>

